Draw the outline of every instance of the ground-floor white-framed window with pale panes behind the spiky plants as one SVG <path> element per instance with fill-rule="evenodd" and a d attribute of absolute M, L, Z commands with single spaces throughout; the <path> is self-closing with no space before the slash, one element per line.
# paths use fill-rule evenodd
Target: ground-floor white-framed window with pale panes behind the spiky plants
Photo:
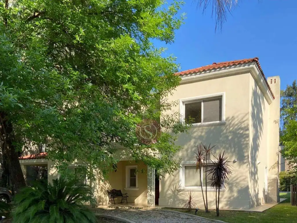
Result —
<path fill-rule="evenodd" d="M 201 190 L 201 182 L 202 187 L 205 189 L 207 180 L 207 189 L 210 191 L 215 190 L 214 188 L 211 188 L 211 175 L 209 172 L 206 178 L 206 170 L 209 170 L 211 168 L 211 165 L 212 164 L 209 163 L 207 164 L 207 166 L 204 166 L 202 168 L 200 181 L 200 173 L 199 170 L 196 171 L 196 164 L 193 164 L 193 162 L 181 164 L 181 168 L 179 171 L 179 183 L 181 185 L 181 189 Z"/>

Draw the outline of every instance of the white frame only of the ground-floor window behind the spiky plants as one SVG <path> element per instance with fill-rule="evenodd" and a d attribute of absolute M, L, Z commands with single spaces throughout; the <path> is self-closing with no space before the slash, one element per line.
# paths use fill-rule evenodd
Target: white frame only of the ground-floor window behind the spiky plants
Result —
<path fill-rule="evenodd" d="M 212 161 L 208 161 L 208 165 L 211 165 Z M 181 167 L 179 169 L 179 185 L 181 191 L 187 191 L 187 190 L 192 190 L 192 191 L 201 191 L 201 186 L 185 186 L 185 167 L 186 166 L 196 166 L 193 161 L 188 161 L 188 162 L 183 162 L 181 163 Z M 197 172 L 197 177 L 199 178 L 199 171 Z M 203 182 L 203 174 L 201 174 L 201 181 Z M 205 190 L 205 186 L 202 186 L 203 190 Z M 210 184 L 207 185 L 207 191 L 216 191 L 215 188 L 210 187 Z M 225 191 L 225 189 L 220 189 L 220 191 Z"/>

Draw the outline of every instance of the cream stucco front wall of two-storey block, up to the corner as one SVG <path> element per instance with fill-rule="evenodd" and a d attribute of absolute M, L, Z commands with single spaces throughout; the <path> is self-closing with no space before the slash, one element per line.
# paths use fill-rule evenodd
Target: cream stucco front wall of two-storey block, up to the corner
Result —
<path fill-rule="evenodd" d="M 225 150 L 231 162 L 233 175 L 225 192 L 221 193 L 221 208 L 249 208 L 249 73 L 225 76 L 181 84 L 168 100 L 178 100 L 195 96 L 225 93 L 225 125 L 209 127 L 192 127 L 189 134 L 181 134 L 177 144 L 184 149 L 176 158 L 182 162 L 193 161 L 195 145 L 200 142 L 217 145 L 215 153 Z M 170 112 L 179 111 L 179 106 Z M 179 171 L 167 175 L 160 181 L 159 205 L 181 206 L 186 199 L 187 191 L 180 190 Z M 195 201 L 203 207 L 200 191 L 195 192 Z M 215 192 L 208 192 L 210 208 L 215 207 Z"/>

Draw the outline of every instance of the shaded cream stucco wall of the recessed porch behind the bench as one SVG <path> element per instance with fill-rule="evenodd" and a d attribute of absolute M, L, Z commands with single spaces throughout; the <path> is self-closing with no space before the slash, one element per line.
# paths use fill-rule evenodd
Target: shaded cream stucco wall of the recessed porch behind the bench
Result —
<path fill-rule="evenodd" d="M 125 189 L 126 187 L 126 166 L 137 165 L 138 167 L 138 190 Z M 108 174 L 108 179 L 100 178 L 99 172 L 96 172 L 96 179 L 91 182 L 94 189 L 94 197 L 99 205 L 108 204 L 107 190 L 121 190 L 128 194 L 128 203 L 147 204 L 147 167 L 143 163 L 136 164 L 135 161 L 120 161 L 116 172 Z M 141 172 L 143 170 L 144 172 Z M 116 199 L 116 203 L 121 202 L 121 198 Z"/>

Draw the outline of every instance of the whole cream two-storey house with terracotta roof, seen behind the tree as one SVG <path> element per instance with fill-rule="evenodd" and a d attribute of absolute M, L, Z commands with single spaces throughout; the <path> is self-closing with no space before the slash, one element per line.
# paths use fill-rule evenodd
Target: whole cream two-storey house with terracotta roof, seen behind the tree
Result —
<path fill-rule="evenodd" d="M 187 191 L 192 190 L 195 202 L 203 207 L 199 173 L 194 166 L 195 146 L 200 142 L 217 145 L 215 154 L 225 150 L 233 169 L 227 188 L 221 192 L 220 208 L 249 209 L 278 202 L 279 76 L 267 81 L 257 58 L 214 63 L 177 75 L 181 77 L 180 86 L 168 95 L 168 100 L 178 100 L 179 106 L 168 113 L 179 112 L 181 121 L 189 116 L 195 120 L 189 134 L 181 134 L 177 141 L 184 148 L 176 154 L 181 159 L 180 170 L 155 179 L 153 169 L 123 156 L 123 148 L 116 155 L 121 160 L 117 171 L 110 172 L 108 180 L 102 181 L 99 175 L 93 181 L 86 178 L 98 204 L 108 203 L 106 190 L 121 189 L 128 193 L 128 202 L 180 207 L 187 199 Z M 45 156 L 42 153 L 21 158 L 24 175 L 28 165 L 39 165 L 47 167 L 49 181 L 56 178 L 57 169 Z M 135 174 L 136 168 L 146 172 Z M 211 188 L 208 203 L 215 208 Z"/>

